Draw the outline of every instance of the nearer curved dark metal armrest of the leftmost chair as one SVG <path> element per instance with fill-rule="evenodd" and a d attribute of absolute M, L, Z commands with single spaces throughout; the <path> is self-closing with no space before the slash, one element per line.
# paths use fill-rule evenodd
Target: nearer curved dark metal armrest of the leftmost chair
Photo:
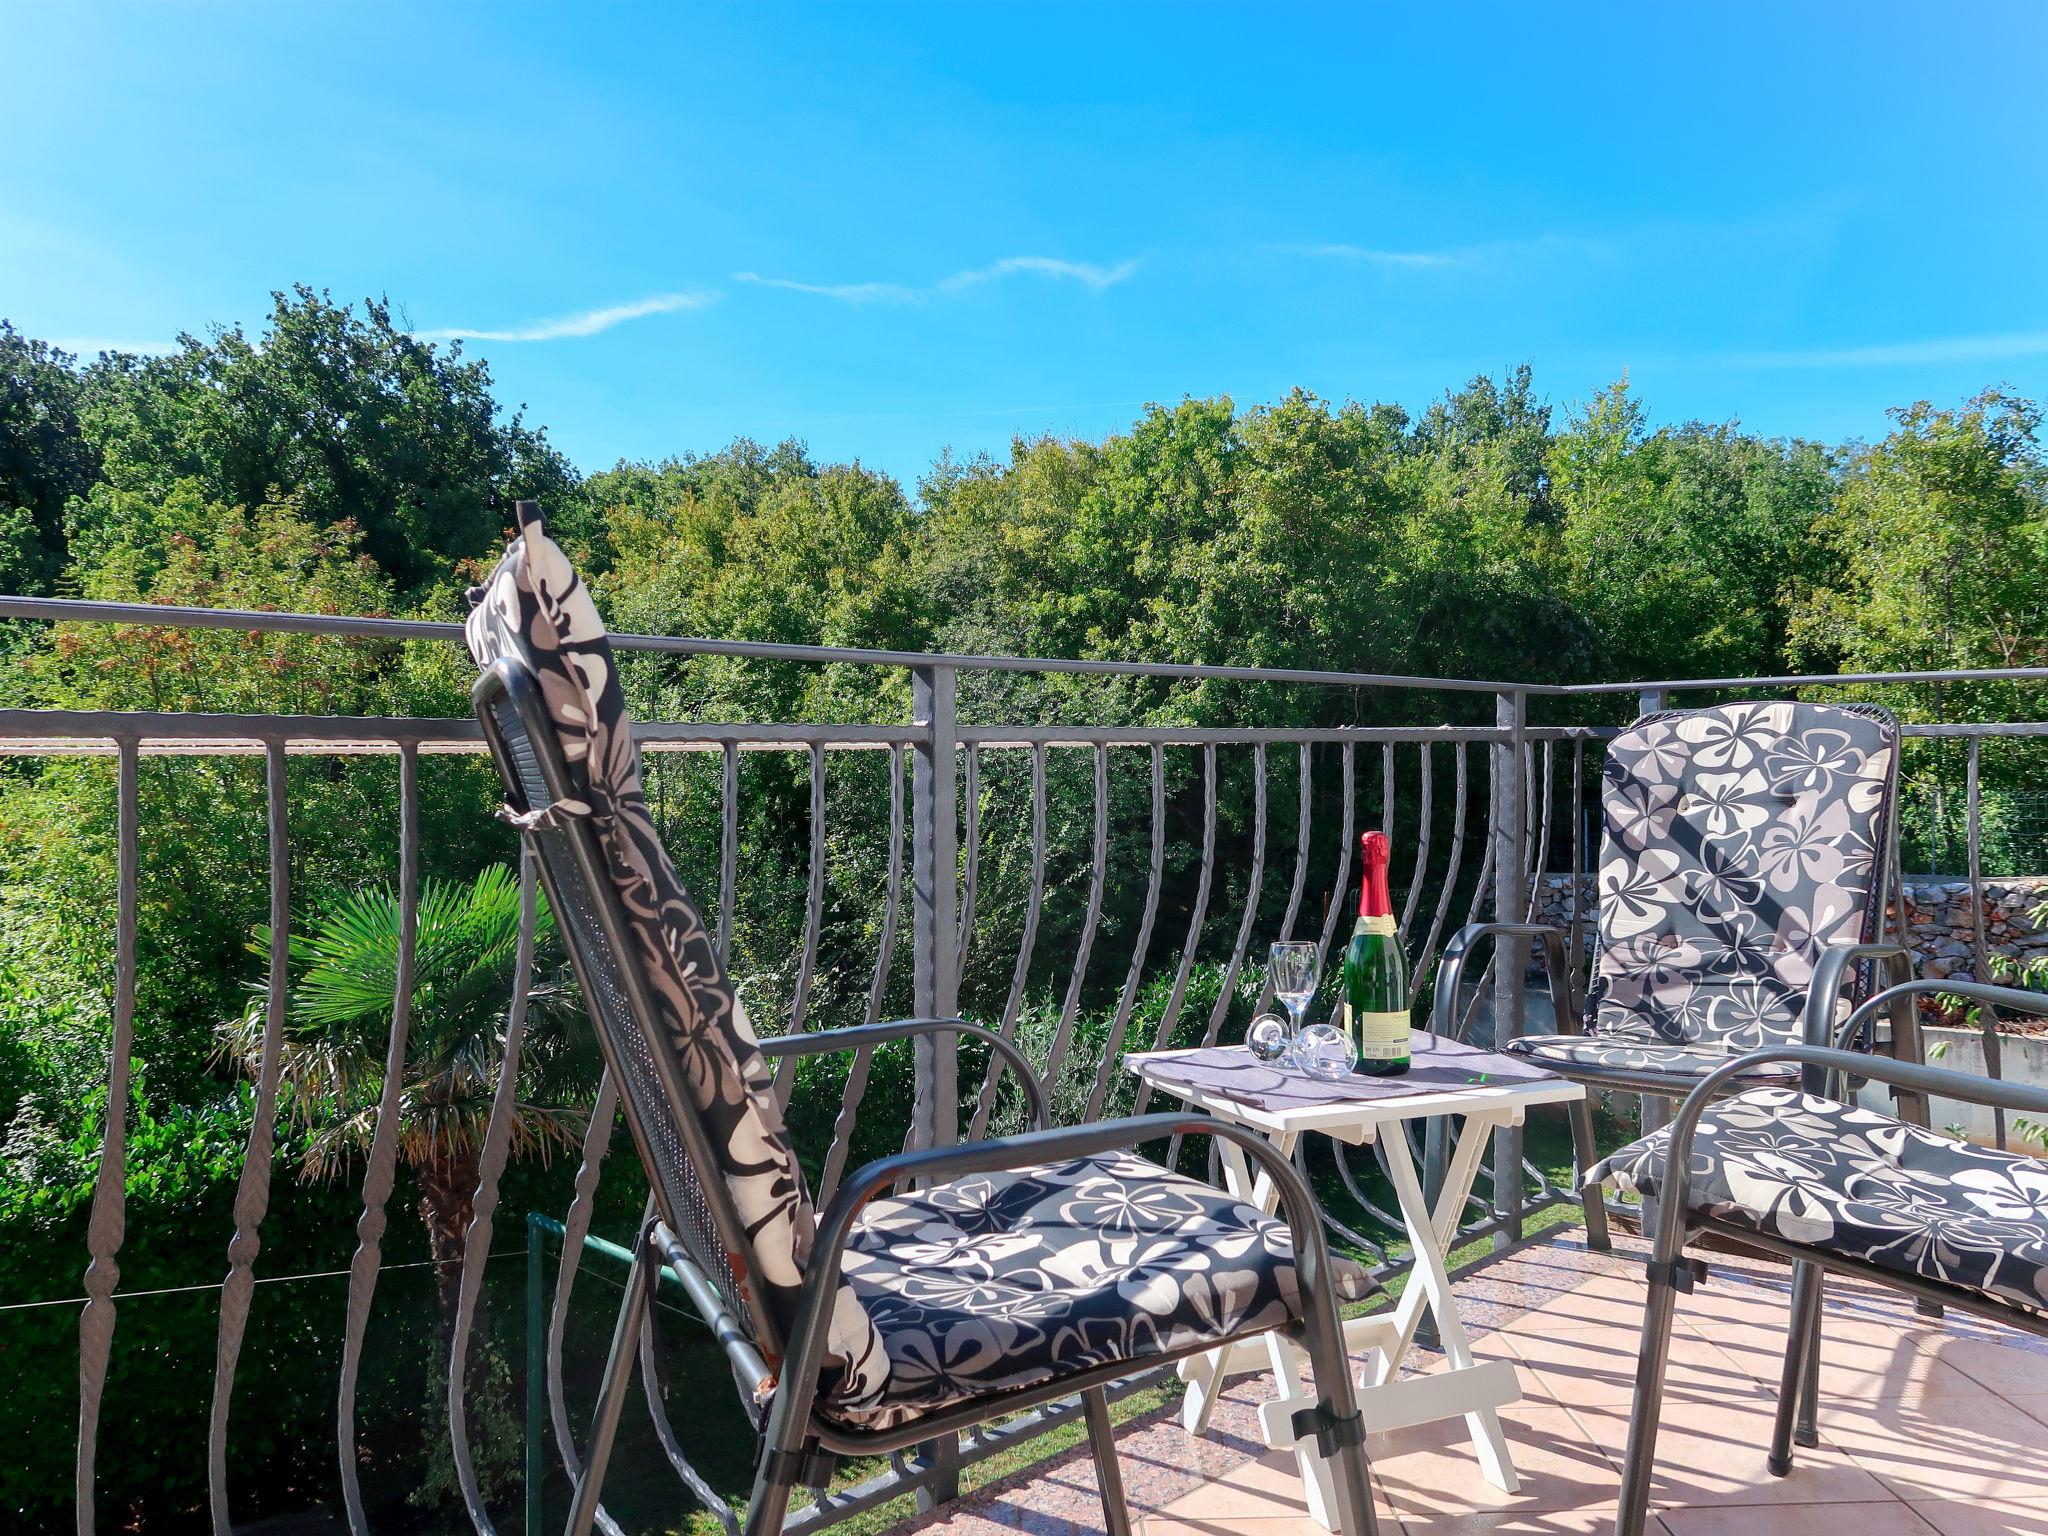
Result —
<path fill-rule="evenodd" d="M 831 1198 L 831 1204 L 817 1219 L 817 1237 L 811 1243 L 811 1260 L 805 1266 L 803 1307 L 791 1329 L 786 1368 L 780 1382 L 780 1391 L 799 1395 L 799 1401 L 791 1407 L 778 1403 L 778 1409 L 809 1411 L 809 1395 L 817 1386 L 817 1372 L 825 1356 L 825 1335 L 831 1327 L 831 1311 L 838 1300 L 846 1239 L 854 1231 L 854 1219 L 860 1214 L 860 1208 L 877 1194 L 905 1180 L 938 1182 L 967 1174 L 1034 1167 L 1067 1157 L 1124 1151 L 1174 1135 L 1233 1141 L 1272 1178 L 1294 1239 L 1294 1268 L 1300 1278 L 1300 1290 L 1305 1296 L 1321 1294 L 1327 1286 L 1329 1243 L 1323 1237 L 1323 1219 L 1315 1196 L 1309 1192 L 1292 1159 L 1282 1155 L 1257 1130 L 1233 1120 L 1219 1120 L 1188 1110 L 1133 1114 L 1122 1120 L 1030 1130 L 1020 1137 L 971 1141 L 961 1147 L 928 1147 L 895 1153 L 891 1157 L 877 1157 L 872 1163 L 850 1174 Z"/>

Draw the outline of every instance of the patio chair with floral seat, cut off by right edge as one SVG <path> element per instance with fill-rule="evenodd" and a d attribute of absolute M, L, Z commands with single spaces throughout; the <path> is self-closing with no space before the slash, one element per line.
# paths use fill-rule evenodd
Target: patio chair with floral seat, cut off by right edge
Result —
<path fill-rule="evenodd" d="M 1915 993 L 1962 995 L 1980 1008 L 2048 1012 L 2038 991 L 1978 981 L 1913 981 L 1878 993 L 1849 1022 Z M 1792 1085 L 1749 1085 L 1757 1069 L 1792 1069 Z M 1636 1368 L 1618 1536 L 1642 1536 L 1671 1317 L 1690 1290 L 1686 1243 L 1702 1233 L 1790 1260 L 1792 1311 L 1767 1466 L 1792 1470 L 1794 1442 L 1819 1444 L 1821 1278 L 1847 1274 L 2048 1337 L 2048 1163 L 1952 1141 L 1847 1098 L 1870 1077 L 1925 1098 L 2048 1114 L 2048 1090 L 1989 1081 L 1911 1061 L 1774 1044 L 1700 1079 L 1669 1126 L 1589 1171 L 1657 1196 L 1642 1352 Z M 1731 1094 L 1731 1096 L 1722 1096 Z"/>

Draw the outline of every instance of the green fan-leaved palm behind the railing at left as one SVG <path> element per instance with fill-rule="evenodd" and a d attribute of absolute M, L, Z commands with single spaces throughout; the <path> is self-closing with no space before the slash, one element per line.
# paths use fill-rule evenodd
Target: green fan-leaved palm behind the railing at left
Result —
<path fill-rule="evenodd" d="M 291 1008 L 279 1081 L 287 1112 L 305 1133 L 305 1178 L 338 1178 L 369 1151 L 377 1133 L 399 924 L 395 891 L 377 887 L 340 899 L 309 932 L 289 938 Z M 420 891 L 397 1155 L 420 1184 L 420 1217 L 440 1280 L 442 1329 L 455 1317 L 463 1241 L 481 1178 L 518 926 L 518 877 L 504 864 L 469 883 L 426 881 Z M 598 1075 L 588 1030 L 569 1028 L 578 1018 L 578 993 L 553 938 L 553 913 L 543 901 L 512 1102 L 514 1159 L 547 1161 L 557 1149 L 573 1149 Z M 250 948 L 268 954 L 270 930 L 258 928 Z M 250 1075 L 260 1071 L 266 1020 L 262 987 L 254 991 L 242 1016 L 221 1026 L 225 1053 Z"/>

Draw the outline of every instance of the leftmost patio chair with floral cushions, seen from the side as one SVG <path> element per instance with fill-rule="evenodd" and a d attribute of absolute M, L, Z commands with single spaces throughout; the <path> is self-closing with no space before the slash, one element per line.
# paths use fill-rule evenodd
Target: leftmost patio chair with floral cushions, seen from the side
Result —
<path fill-rule="evenodd" d="M 836 1458 L 899 1452 L 1079 1395 L 1110 1532 L 1128 1532 L 1106 1386 L 1231 1339 L 1286 1333 L 1313 1364 L 1294 1432 L 1333 1460 L 1352 1536 L 1376 1532 L 1337 1300 L 1370 1278 L 1333 1262 L 1313 1196 L 1260 1135 L 1196 1114 L 1044 1126 L 1026 1057 L 956 1018 L 758 1042 L 641 795 L 604 625 L 547 537 L 520 535 L 471 594 L 473 700 L 567 938 L 606 1069 L 653 1194 L 635 1243 L 567 1530 L 598 1509 L 657 1266 L 725 1346 L 760 1436 L 750 1536 Z M 819 1212 L 766 1059 L 952 1032 L 1016 1075 L 1030 1130 L 883 1157 Z M 1227 1137 L 1286 1221 L 1145 1161 L 1176 1133 Z M 885 1196 L 887 1190 L 913 1186 Z"/>

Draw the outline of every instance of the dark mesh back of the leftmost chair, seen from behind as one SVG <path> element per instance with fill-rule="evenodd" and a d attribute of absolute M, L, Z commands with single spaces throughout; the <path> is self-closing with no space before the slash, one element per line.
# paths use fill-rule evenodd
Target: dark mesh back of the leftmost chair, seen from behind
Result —
<path fill-rule="evenodd" d="M 510 756 L 510 768 L 526 797 L 526 809 L 543 811 L 553 805 L 547 778 L 535 752 L 535 741 L 526 733 L 518 711 L 504 696 L 492 705 L 492 715 Z M 676 1237 L 688 1249 L 696 1266 L 725 1296 L 741 1323 L 752 1331 L 754 1319 L 745 1298 L 733 1278 L 725 1241 L 719 1237 L 711 1204 L 696 1167 L 684 1147 L 682 1130 L 662 1077 L 655 1071 L 647 1036 L 627 1004 L 627 987 L 618 975 L 618 958 L 604 934 L 590 883 L 584 879 L 571 838 L 588 838 L 588 827 L 567 823 L 541 823 L 532 829 L 541 852 L 549 899 L 555 907 L 555 924 L 567 938 L 575 973 L 584 983 L 584 997 L 590 1004 L 594 1022 L 610 1044 L 608 1057 L 618 1065 L 621 1092 L 627 1100 L 627 1116 L 645 1147 L 649 1176 L 659 1184 L 662 1214 Z"/>

